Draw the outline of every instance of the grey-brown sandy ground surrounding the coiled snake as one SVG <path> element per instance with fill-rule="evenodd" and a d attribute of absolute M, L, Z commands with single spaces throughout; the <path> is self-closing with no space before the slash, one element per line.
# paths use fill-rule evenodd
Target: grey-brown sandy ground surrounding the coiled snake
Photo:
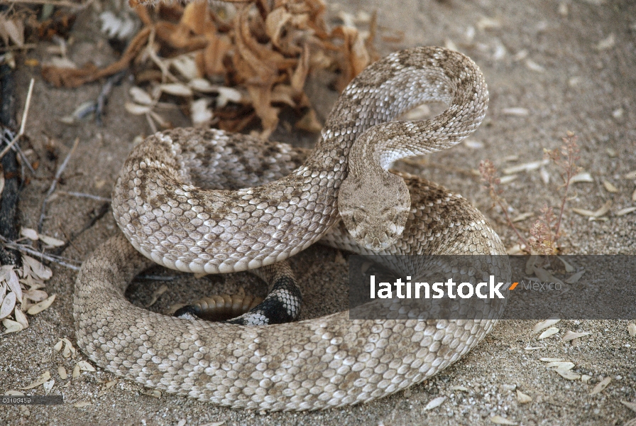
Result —
<path fill-rule="evenodd" d="M 421 173 L 468 197 L 500 233 L 506 246 L 515 244 L 510 229 L 471 170 L 480 160 L 490 158 L 498 168 L 541 160 L 543 148 L 556 148 L 566 131 L 579 136 L 579 164 L 593 176 L 593 183 L 574 187 L 570 207 L 597 209 L 606 200 L 612 211 L 630 207 L 633 180 L 623 175 L 636 170 L 636 4 L 632 1 L 491 1 L 420 0 L 351 1 L 331 5 L 356 13 L 377 9 L 381 26 L 405 32 L 400 43 L 380 43 L 383 53 L 415 45 L 444 45 L 452 42 L 475 60 L 490 87 L 490 109 L 486 122 L 475 133 L 472 144 L 463 143 L 422 161 L 422 166 L 404 165 L 411 173 Z M 492 20 L 492 21 L 489 21 Z M 92 13 L 80 16 L 75 28 L 76 43 L 70 55 L 82 63 L 91 58 L 98 65 L 114 59 Z M 473 35 L 471 36 L 471 32 Z M 613 43 L 610 39 L 613 37 Z M 600 44 L 599 44 L 600 43 Z M 38 46 L 26 58 L 46 58 Z M 45 141 L 53 138 L 61 158 L 75 138 L 80 143 L 64 173 L 61 190 L 89 192 L 109 197 L 112 185 L 135 136 L 148 134 L 143 119 L 126 114 L 126 81 L 114 89 L 104 126 L 92 122 L 77 126 L 60 123 L 81 102 L 94 99 L 99 84 L 79 89 L 54 89 L 39 77 L 39 70 L 18 61 L 18 104 L 22 105 L 28 80 L 35 77 L 35 92 L 27 133 L 40 168 L 21 195 L 21 224 L 35 228 L 43 195 L 55 173 L 55 163 L 45 154 Z M 336 94 L 324 84 L 312 83 L 313 99 L 324 118 Z M 506 109 L 527 109 L 525 115 Z M 512 110 L 515 111 L 515 110 Z M 178 113 L 170 117 L 177 125 L 187 124 Z M 277 138 L 297 137 L 277 131 Z M 300 143 L 307 143 L 306 135 Z M 28 147 L 25 147 L 28 148 Z M 610 153 L 608 153 L 608 148 Z M 613 150 L 613 152 L 611 151 Z M 612 155 L 610 155 L 612 154 Z M 516 160 L 510 160 L 515 156 Z M 559 173 L 546 167 L 550 182 L 545 184 L 538 170 L 520 173 L 505 185 L 505 196 L 515 209 L 512 214 L 538 212 L 544 202 L 559 202 Z M 602 181 L 618 188 L 610 193 Z M 60 196 L 51 202 L 44 232 L 60 239 L 81 229 L 100 202 Z M 561 240 L 566 253 L 636 254 L 636 214 L 608 216 L 606 221 L 566 212 L 566 236 Z M 521 226 L 529 226 L 525 221 Z M 111 214 L 84 232 L 64 256 L 84 259 L 116 232 Z M 345 256 L 346 258 L 346 256 Z M 324 315 L 346 307 L 344 283 L 346 263 L 341 253 L 314 247 L 292 261 L 300 275 L 305 295 L 305 317 Z M 31 318 L 31 327 L 0 337 L 0 393 L 31 383 L 44 371 L 51 371 L 54 394 L 62 394 L 65 405 L 31 406 L 27 416 L 18 407 L 0 407 L 0 424 L 24 425 L 493 425 L 491 417 L 508 419 L 515 425 L 625 425 L 636 413 L 621 400 L 636 402 L 636 339 L 627 333 L 627 320 L 562 321 L 552 338 L 538 340 L 532 333 L 536 321 L 500 322 L 493 332 L 468 356 L 438 376 L 390 398 L 352 408 L 317 413 L 273 413 L 261 415 L 198 403 L 187 398 L 144 395 L 144 388 L 119 380 L 99 370 L 84 372 L 76 379 L 62 380 L 57 366 L 72 371 L 76 360 L 53 351 L 60 337 L 75 342 L 72 322 L 72 291 L 75 272 L 52 266 L 48 293 L 57 300 L 45 312 Z M 262 292 L 248 274 L 192 280 L 180 277 L 170 283 L 170 291 L 153 306 L 165 310 L 197 290 L 215 285 L 219 292 L 245 288 Z M 161 283 L 138 283 L 131 288 L 131 300 L 144 304 Z M 335 296 L 335 297 L 334 297 Z M 634 319 L 632 319 L 634 320 Z M 580 344 L 562 342 L 567 330 L 589 332 Z M 527 350 L 527 347 L 539 349 Z M 591 376 L 588 383 L 568 381 L 548 371 L 542 357 L 559 357 L 576 364 L 574 372 Z M 611 378 L 609 386 L 590 395 L 596 383 Z M 117 381 L 106 389 L 104 383 Z M 68 384 L 67 387 L 65 387 Z M 461 386 L 461 389 L 456 388 Z M 454 388 L 455 387 L 455 388 Z M 463 389 L 463 390 L 462 390 Z M 521 404 L 516 391 L 532 397 Z M 43 394 L 39 388 L 31 392 Z M 445 396 L 442 405 L 424 410 L 427 404 Z M 76 408 L 86 401 L 91 405 Z M 496 417 L 495 417 L 496 419 Z M 184 423 L 185 422 L 185 423 Z"/>

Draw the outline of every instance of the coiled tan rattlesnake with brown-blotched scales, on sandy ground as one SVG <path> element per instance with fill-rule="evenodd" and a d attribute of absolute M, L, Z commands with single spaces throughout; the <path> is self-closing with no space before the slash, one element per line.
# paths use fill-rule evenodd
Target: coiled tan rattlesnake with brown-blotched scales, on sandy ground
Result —
<path fill-rule="evenodd" d="M 428 121 L 389 122 L 429 101 L 449 108 Z M 148 312 L 127 302 L 124 290 L 152 264 L 149 258 L 182 271 L 244 271 L 282 261 L 323 236 L 358 253 L 380 246 L 380 253 L 394 254 L 504 254 L 461 196 L 365 163 L 388 167 L 454 145 L 476 129 L 487 102 L 481 72 L 466 56 L 414 48 L 375 62 L 349 84 L 316 148 L 295 170 L 300 154 L 293 148 L 248 136 L 177 129 L 148 138 L 126 160 L 113 194 L 126 238 L 106 241 L 77 277 L 79 346 L 119 376 L 234 408 L 349 405 L 432 376 L 466 354 L 495 320 L 349 320 L 340 312 L 245 327 Z M 380 138 L 383 149 L 351 148 L 356 138 Z M 336 207 L 361 244 L 336 224 Z"/>

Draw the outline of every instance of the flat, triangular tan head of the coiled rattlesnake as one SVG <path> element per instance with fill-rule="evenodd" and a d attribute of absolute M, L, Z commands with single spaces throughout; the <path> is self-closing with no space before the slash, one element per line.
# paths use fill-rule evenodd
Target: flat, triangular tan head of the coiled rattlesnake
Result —
<path fill-rule="evenodd" d="M 349 173 L 338 192 L 338 210 L 344 226 L 358 244 L 372 251 L 395 244 L 411 208 L 404 180 L 383 172 L 364 178 Z"/>

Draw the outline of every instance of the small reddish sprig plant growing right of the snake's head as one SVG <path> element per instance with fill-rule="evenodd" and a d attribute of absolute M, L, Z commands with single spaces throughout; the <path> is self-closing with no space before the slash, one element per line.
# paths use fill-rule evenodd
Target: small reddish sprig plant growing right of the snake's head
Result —
<path fill-rule="evenodd" d="M 517 234 L 517 239 L 519 239 L 522 249 L 530 253 L 549 255 L 559 252 L 557 241 L 561 237 L 561 221 L 563 220 L 563 212 L 568 199 L 570 183 L 574 175 L 579 173 L 576 161 L 581 157 L 579 156 L 579 146 L 576 145 L 576 135 L 568 131 L 567 136 L 563 138 L 561 148 L 554 150 L 544 149 L 544 154 L 561 170 L 561 178 L 563 179 L 561 206 L 559 215 L 555 216 L 554 209 L 544 204 L 539 211 L 539 219 L 530 227 L 530 237 L 528 238 L 525 238 L 520 233 L 517 226 L 510 219 L 508 202 L 501 196 L 503 194 L 503 189 L 500 188 L 501 180 L 493 162 L 490 160 L 481 161 L 479 163 L 479 173 L 481 173 L 483 185 L 488 190 L 490 198 L 501 208 L 508 226 Z"/>

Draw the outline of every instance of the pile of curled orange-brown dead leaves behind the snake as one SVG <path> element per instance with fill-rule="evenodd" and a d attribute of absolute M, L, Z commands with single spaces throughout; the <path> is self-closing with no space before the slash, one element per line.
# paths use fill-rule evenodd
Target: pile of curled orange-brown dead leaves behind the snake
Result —
<path fill-rule="evenodd" d="M 240 131 L 258 117 L 266 138 L 283 106 L 302 115 L 298 128 L 321 129 L 304 92 L 309 72 L 337 71 L 336 87 L 343 89 L 377 59 L 371 45 L 375 20 L 366 33 L 350 25 L 330 30 L 322 0 L 133 6 L 143 28 L 117 62 L 102 70 L 49 65 L 43 67 L 45 80 L 77 87 L 133 65 L 137 83 L 148 86 L 136 94 L 141 90 L 147 99 L 133 95 L 127 109 L 146 114 L 151 126 L 170 126 L 156 111 L 167 93 L 185 101 L 194 125 Z"/>

